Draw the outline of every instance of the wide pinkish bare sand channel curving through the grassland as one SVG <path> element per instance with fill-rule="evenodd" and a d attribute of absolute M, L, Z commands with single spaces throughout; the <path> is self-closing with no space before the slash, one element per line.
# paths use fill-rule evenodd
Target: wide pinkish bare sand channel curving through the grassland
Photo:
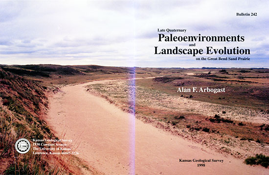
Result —
<path fill-rule="evenodd" d="M 84 87 L 104 82 L 108 80 L 65 86 L 49 97 L 46 121 L 56 136 L 73 140 L 72 151 L 79 152 L 90 167 L 105 175 L 268 175 L 268 169 L 248 166 L 242 159 L 224 156 L 134 119 Z M 202 162 L 180 162 L 180 158 L 224 162 L 198 167 Z"/>

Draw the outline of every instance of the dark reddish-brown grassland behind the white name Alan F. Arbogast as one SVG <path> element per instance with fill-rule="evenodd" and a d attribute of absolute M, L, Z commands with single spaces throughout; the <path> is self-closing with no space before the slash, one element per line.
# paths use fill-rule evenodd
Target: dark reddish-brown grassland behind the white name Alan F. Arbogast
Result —
<path fill-rule="evenodd" d="M 238 69 L 226 69 L 226 73 L 219 72 L 218 69 L 183 69 L 177 74 L 162 74 L 167 78 L 174 79 L 169 82 L 152 81 L 151 79 L 138 79 L 136 84 L 149 89 L 159 90 L 170 95 L 189 97 L 193 96 L 193 100 L 222 104 L 228 106 L 250 107 L 260 110 L 268 110 L 269 106 L 269 73 L 257 73 L 256 70 L 250 70 L 247 73 L 239 73 Z M 189 75 L 191 71 L 191 75 Z M 205 71 L 205 72 L 203 72 Z M 168 70 L 167 70 L 168 72 Z M 242 77 L 255 77 L 244 78 Z M 221 79 L 222 81 L 216 81 Z M 242 82 L 241 82 L 242 81 Z M 244 82 L 243 82 L 244 81 Z M 225 88 L 225 93 L 177 93 L 179 87 L 210 87 Z M 245 99 L 248 100 L 245 100 Z"/>

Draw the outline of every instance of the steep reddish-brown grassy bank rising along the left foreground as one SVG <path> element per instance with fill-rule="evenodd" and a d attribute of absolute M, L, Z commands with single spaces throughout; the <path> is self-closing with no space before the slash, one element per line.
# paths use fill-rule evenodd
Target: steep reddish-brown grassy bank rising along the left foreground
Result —
<path fill-rule="evenodd" d="M 0 174 L 83 175 L 102 174 L 75 156 L 19 154 L 15 142 L 26 138 L 56 138 L 41 113 L 47 106 L 45 88 L 38 82 L 0 69 Z M 83 172 L 84 171 L 84 172 Z"/>

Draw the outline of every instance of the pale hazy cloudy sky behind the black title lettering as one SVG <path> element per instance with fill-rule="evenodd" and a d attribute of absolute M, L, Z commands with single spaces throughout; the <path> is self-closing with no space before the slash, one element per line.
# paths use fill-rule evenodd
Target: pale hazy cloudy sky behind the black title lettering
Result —
<path fill-rule="evenodd" d="M 0 64 L 269 67 L 268 6 L 267 0 L 0 1 Z M 257 16 L 236 16 L 251 12 Z M 158 42 L 158 28 L 245 41 Z M 191 55 L 155 55 L 154 46 L 204 52 L 206 46 L 238 46 L 250 49 L 251 60 L 201 62 Z"/>

